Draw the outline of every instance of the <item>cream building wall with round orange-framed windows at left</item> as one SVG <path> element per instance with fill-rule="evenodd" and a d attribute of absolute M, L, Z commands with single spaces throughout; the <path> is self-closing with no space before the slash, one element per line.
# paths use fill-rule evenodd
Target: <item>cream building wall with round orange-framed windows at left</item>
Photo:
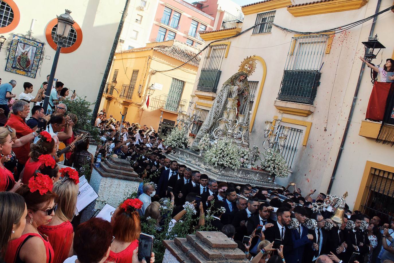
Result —
<path fill-rule="evenodd" d="M 0 35 L 6 37 L 0 52 L 2 83 L 11 79 L 16 80 L 17 86 L 13 89 L 13 93 L 18 96 L 23 91 L 23 83 L 31 82 L 35 96 L 52 68 L 56 52 L 52 46 L 56 48 L 56 44 L 52 40 L 51 32 L 57 24 L 56 15 L 69 9 L 75 21 L 73 26 L 75 35 L 69 37 L 72 45 L 62 48 L 55 78 L 70 90 L 76 90 L 78 96 L 87 96 L 88 101 L 95 101 L 126 1 L 4 0 L 3 2 L 11 7 L 14 18 L 9 26 L 0 27 Z M 12 35 L 26 35 L 29 30 L 32 32 L 32 37 L 44 43 L 43 60 L 40 62 L 35 78 L 4 71 L 8 55 L 6 48 Z"/>

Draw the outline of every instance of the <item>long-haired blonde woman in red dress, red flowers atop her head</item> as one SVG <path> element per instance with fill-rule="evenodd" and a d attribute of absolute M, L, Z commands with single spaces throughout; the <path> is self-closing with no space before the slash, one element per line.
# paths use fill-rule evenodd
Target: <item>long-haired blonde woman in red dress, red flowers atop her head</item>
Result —
<path fill-rule="evenodd" d="M 78 172 L 72 168 L 60 169 L 61 179 L 54 183 L 53 192 L 58 195 L 58 209 L 52 221 L 38 230 L 49 237 L 49 242 L 55 252 L 52 262 L 63 263 L 73 255 L 72 239 L 74 229 L 71 220 L 74 217 L 76 197 L 78 195 Z"/>

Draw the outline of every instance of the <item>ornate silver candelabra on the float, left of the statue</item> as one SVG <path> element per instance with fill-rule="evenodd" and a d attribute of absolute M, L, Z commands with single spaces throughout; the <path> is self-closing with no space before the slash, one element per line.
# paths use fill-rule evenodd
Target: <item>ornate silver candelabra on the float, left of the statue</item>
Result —
<path fill-rule="evenodd" d="M 192 134 L 197 134 L 198 125 L 197 120 L 200 118 L 200 108 L 197 108 L 197 104 L 194 102 L 195 95 L 190 95 L 189 114 L 184 110 L 184 104 L 179 104 L 177 127 L 190 131 Z"/>

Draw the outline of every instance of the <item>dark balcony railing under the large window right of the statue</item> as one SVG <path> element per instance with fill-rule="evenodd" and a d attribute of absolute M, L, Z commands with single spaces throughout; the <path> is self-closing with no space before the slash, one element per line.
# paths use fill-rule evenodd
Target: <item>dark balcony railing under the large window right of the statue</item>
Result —
<path fill-rule="evenodd" d="M 285 70 L 278 99 L 313 105 L 321 74 L 317 70 Z"/>

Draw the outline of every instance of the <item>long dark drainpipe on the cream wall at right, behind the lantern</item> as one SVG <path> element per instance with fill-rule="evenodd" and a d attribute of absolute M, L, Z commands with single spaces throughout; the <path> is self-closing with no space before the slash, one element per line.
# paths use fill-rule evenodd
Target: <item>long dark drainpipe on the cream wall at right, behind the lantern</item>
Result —
<path fill-rule="evenodd" d="M 380 8 L 381 2 L 382 2 L 382 0 L 377 0 L 375 14 L 379 12 L 379 8 Z M 377 20 L 377 17 L 374 17 L 374 20 L 373 20 L 372 26 L 371 26 L 371 31 L 370 31 L 369 38 L 372 38 L 374 36 L 376 20 Z M 367 50 L 367 52 L 368 52 L 368 50 Z M 359 95 L 359 90 L 360 90 L 360 85 L 361 85 L 361 78 L 362 78 L 362 75 L 364 74 L 364 68 L 365 68 L 365 63 L 362 62 L 361 69 L 360 69 L 360 74 L 359 74 L 359 79 L 357 80 L 356 90 L 354 91 L 353 103 L 351 104 L 351 108 L 350 108 L 349 116 L 348 116 L 348 121 L 346 122 L 344 135 L 342 136 L 341 145 L 339 147 L 338 155 L 336 156 L 333 173 L 331 174 L 330 184 L 328 185 L 328 189 L 327 189 L 327 194 L 329 194 L 331 192 L 331 188 L 333 187 L 336 170 L 338 170 L 338 165 L 339 165 L 339 161 L 341 159 L 342 151 L 344 149 L 346 137 L 348 136 L 351 118 L 353 117 L 353 112 L 354 112 L 354 108 L 356 106 L 357 96 Z"/>

